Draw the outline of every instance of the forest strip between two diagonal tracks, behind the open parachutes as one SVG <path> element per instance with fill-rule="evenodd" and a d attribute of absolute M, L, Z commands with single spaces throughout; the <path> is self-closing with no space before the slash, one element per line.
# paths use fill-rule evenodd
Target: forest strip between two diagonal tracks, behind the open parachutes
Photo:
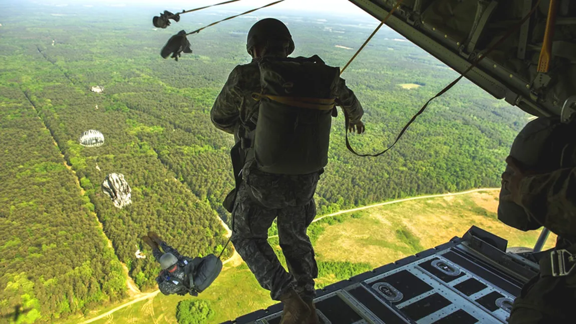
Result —
<path fill-rule="evenodd" d="M 116 254 L 127 264 L 135 283 L 142 289 L 156 287 L 154 278 L 160 266 L 141 241 L 149 230 L 158 232 L 186 255 L 221 251 L 226 239 L 217 215 L 162 165 L 149 143 L 139 140 L 136 134 L 140 126 L 130 119 L 137 116 L 122 102 L 75 86 L 40 54 L 34 63 L 41 82 L 24 82 L 26 94 L 76 171 Z M 164 131 L 162 127 L 152 128 Z M 104 146 L 79 145 L 78 136 L 87 129 L 103 132 Z M 132 204 L 123 209 L 114 207 L 100 188 L 105 176 L 113 172 L 124 174 L 132 189 Z M 145 251 L 145 259 L 135 257 L 138 249 Z M 225 256 L 229 254 L 230 250 Z"/>

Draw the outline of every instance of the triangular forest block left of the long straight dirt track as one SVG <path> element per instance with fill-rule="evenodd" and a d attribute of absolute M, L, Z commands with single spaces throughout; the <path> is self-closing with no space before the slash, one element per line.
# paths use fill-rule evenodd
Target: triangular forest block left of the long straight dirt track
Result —
<path fill-rule="evenodd" d="M 0 147 L 0 321 L 54 322 L 124 298 L 126 275 L 89 198 L 20 87 L 4 75 Z"/>

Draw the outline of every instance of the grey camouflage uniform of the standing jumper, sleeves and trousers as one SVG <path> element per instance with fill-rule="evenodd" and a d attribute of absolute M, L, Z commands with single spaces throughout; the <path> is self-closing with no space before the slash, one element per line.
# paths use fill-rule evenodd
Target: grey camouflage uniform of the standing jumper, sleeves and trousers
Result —
<path fill-rule="evenodd" d="M 238 128 L 257 122 L 258 102 L 252 93 L 260 92 L 260 71 L 256 59 L 234 68 L 226 85 L 211 110 L 214 125 L 234 134 Z M 338 86 L 342 108 L 351 123 L 358 122 L 363 114 L 354 93 L 343 79 Z M 289 288 L 294 288 L 303 299 L 315 296 L 314 278 L 318 275 L 314 250 L 306 228 L 316 216 L 313 200 L 320 172 L 299 176 L 265 173 L 249 160 L 242 169 L 233 214 L 232 242 L 248 264 L 263 288 L 279 300 Z M 277 220 L 278 236 L 290 273 L 286 272 L 268 244 L 268 228 Z"/>

